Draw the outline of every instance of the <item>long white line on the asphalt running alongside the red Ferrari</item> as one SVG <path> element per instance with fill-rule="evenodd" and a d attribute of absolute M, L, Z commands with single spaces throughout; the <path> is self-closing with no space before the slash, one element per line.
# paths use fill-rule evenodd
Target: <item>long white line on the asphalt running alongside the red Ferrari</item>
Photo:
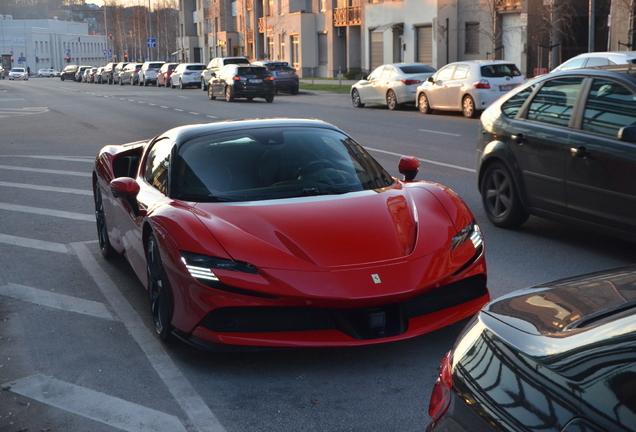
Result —
<path fill-rule="evenodd" d="M 115 283 L 97 263 L 84 243 L 71 243 L 70 247 L 91 275 L 126 329 L 146 354 L 148 361 L 163 380 L 177 403 L 199 432 L 226 432 L 201 396 L 174 364 L 157 338 L 144 326 L 143 321 L 117 289 Z"/>

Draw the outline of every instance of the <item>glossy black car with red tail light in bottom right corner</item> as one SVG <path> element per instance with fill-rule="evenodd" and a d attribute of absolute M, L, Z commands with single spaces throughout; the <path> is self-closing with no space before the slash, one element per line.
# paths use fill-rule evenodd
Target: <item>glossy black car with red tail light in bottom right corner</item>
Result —
<path fill-rule="evenodd" d="M 444 357 L 427 432 L 636 430 L 636 266 L 484 306 Z"/>

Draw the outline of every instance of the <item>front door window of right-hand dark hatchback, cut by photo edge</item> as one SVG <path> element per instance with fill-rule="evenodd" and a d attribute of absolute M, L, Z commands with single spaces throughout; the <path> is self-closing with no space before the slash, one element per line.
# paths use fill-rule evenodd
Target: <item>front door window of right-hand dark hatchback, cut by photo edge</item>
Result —
<path fill-rule="evenodd" d="M 595 79 L 583 112 L 583 130 L 616 138 L 623 126 L 636 124 L 636 98 L 621 84 Z"/>

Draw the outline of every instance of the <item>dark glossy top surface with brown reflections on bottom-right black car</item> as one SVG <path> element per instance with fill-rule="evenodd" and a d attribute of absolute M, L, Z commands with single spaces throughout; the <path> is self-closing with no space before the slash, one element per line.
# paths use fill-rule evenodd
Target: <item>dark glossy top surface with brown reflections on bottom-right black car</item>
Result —
<path fill-rule="evenodd" d="M 610 324 L 636 317 L 636 266 L 516 291 L 493 301 L 484 312 L 534 335 L 564 338 L 603 325 L 607 337 L 612 331 Z"/>

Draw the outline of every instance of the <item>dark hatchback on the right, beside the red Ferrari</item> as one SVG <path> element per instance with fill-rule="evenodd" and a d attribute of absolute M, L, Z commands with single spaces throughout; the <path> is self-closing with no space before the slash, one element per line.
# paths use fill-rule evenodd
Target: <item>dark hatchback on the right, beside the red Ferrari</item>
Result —
<path fill-rule="evenodd" d="M 486 109 L 478 187 L 486 215 L 528 215 L 636 241 L 636 67 L 538 77 Z"/>

